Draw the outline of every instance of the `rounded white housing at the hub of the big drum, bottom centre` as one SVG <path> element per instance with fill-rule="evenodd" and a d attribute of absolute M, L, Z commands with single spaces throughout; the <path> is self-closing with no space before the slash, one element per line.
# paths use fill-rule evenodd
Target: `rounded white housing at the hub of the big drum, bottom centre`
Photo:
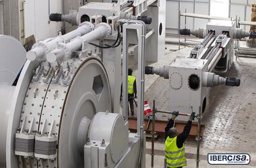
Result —
<path fill-rule="evenodd" d="M 90 124 L 88 137 L 90 142 L 84 146 L 85 167 L 103 167 L 105 153 L 108 155 L 108 165 L 114 167 L 129 147 L 128 122 L 123 120 L 121 114 L 98 112 Z"/>

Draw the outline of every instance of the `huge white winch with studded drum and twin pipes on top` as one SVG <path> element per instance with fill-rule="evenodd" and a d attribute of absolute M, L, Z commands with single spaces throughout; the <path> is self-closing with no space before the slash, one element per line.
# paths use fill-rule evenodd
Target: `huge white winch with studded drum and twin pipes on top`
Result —
<path fill-rule="evenodd" d="M 27 53 L 15 40 L 0 46 L 6 60 L 0 67 L 0 167 L 145 167 L 143 71 L 138 77 L 137 114 L 142 120 L 137 134 L 129 133 L 127 108 L 122 115 L 119 106 L 121 26 L 123 50 L 128 34 L 136 34 L 144 69 L 147 21 L 135 19 L 112 15 L 104 23 L 95 17 L 68 34 L 36 42 Z M 127 66 L 123 83 L 126 87 Z M 123 92 L 127 95 L 127 87 Z"/>

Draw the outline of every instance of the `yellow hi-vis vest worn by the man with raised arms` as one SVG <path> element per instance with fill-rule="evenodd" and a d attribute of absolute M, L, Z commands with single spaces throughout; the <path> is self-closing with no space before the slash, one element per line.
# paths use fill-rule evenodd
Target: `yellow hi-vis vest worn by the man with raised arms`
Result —
<path fill-rule="evenodd" d="M 165 158 L 167 167 L 183 167 L 187 165 L 185 157 L 185 145 L 177 147 L 177 136 L 165 140 Z"/>

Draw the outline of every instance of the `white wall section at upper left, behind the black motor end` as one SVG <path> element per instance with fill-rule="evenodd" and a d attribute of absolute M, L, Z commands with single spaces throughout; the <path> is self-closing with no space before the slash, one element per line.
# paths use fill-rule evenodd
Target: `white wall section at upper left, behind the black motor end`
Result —
<path fill-rule="evenodd" d="M 38 40 L 55 37 L 63 23 L 49 22 L 50 13 L 63 13 L 62 0 L 26 0 L 24 4 L 25 36 Z"/>

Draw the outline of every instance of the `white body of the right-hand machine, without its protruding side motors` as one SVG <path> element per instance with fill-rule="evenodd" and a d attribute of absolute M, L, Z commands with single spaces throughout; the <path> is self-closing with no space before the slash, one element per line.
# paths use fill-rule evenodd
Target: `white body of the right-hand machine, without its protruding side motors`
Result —
<path fill-rule="evenodd" d="M 177 57 L 169 68 L 169 80 L 170 80 L 170 112 L 179 111 L 190 114 L 192 112 L 191 107 L 193 107 L 193 112 L 203 115 L 207 109 L 208 94 L 209 91 L 203 84 L 203 79 L 205 79 L 205 73 L 216 72 L 216 73 L 226 73 L 233 62 L 234 56 L 234 40 L 233 33 L 235 30 L 234 22 L 232 21 L 219 21 L 212 20 L 207 24 L 207 32 L 211 30 L 215 31 L 216 39 L 208 48 L 200 46 L 195 46 L 191 53 L 197 53 L 197 58 L 186 58 Z M 228 36 L 222 35 L 223 33 L 228 33 Z M 203 59 L 207 56 L 209 48 L 213 48 L 216 42 L 220 42 L 221 52 L 218 52 L 212 60 Z M 221 49 L 222 48 L 222 49 Z M 218 71 L 218 62 L 226 59 L 225 69 L 223 71 Z M 189 87 L 189 77 L 191 75 L 197 75 L 199 77 L 199 87 L 198 89 L 192 89 Z M 187 118 L 184 116 L 179 116 L 178 120 L 186 121 Z M 197 121 L 197 120 L 196 120 Z"/>

